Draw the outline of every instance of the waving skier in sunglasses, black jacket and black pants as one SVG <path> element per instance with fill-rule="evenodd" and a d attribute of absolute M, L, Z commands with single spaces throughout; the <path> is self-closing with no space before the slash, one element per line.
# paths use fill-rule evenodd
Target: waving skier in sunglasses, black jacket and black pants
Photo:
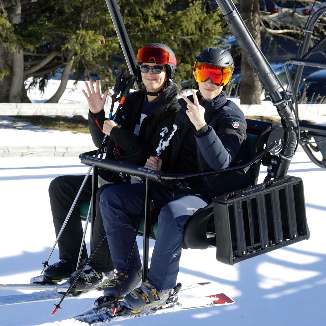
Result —
<path fill-rule="evenodd" d="M 89 81 L 90 85 L 86 82 L 88 94 L 85 91 L 83 93 L 89 106 L 89 127 L 94 144 L 98 147 L 104 134 L 109 136 L 105 144 L 107 147 L 106 159 L 116 159 L 120 162 L 143 166 L 147 157 L 155 155 L 162 129 L 165 132 L 171 130 L 175 114 L 180 108 L 176 98 L 177 85 L 172 82 L 176 64 L 175 54 L 164 44 L 151 43 L 139 49 L 137 77 L 138 81 L 141 82 L 142 89 L 130 93 L 126 97 L 115 121 L 105 118 L 104 104 L 108 91 L 102 97 L 99 92 L 98 81 L 96 81 L 96 90 L 91 80 Z M 108 176 L 105 171 L 100 171 L 99 175 L 111 183 L 103 185 L 96 195 L 93 249 L 96 248 L 105 234 L 98 207 L 100 193 L 112 182 L 114 184 L 123 183 L 121 178 L 116 176 L 112 179 L 112 174 Z M 61 229 L 83 178 L 84 176 L 61 176 L 54 179 L 50 184 L 49 194 L 56 235 Z M 91 191 L 92 180 L 89 177 L 82 190 L 80 200 L 90 200 Z M 68 278 L 66 283 L 57 286 L 57 291 L 67 291 L 70 282 L 77 274 L 73 272 L 76 269 L 81 241 L 82 223 L 76 207 L 58 241 L 61 260 L 48 266 L 44 274 L 41 275 L 42 277 L 32 278 L 31 281 L 47 283 L 52 282 L 52 280 L 58 281 Z M 82 259 L 86 258 L 87 251 L 84 245 Z M 104 241 L 72 290 L 87 291 L 104 287 L 107 281 L 113 279 L 113 270 L 108 243 Z"/>

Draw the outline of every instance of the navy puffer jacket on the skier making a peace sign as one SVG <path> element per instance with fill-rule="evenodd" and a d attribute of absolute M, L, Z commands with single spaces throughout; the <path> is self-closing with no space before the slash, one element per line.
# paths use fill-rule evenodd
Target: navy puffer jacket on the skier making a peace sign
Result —
<path fill-rule="evenodd" d="M 200 105 L 205 108 L 205 130 L 194 133 L 196 139 L 196 156 L 199 171 L 223 170 L 247 160 L 245 151 L 246 120 L 243 112 L 232 101 L 227 100 L 225 92 L 212 100 L 202 100 L 197 96 Z M 193 97 L 188 96 L 193 102 Z M 170 157 L 170 171 L 179 157 L 185 135 L 190 127 L 193 128 L 185 111 L 186 103 L 179 100 L 182 108 L 178 111 L 175 124 L 180 128 L 172 140 Z M 204 129 L 204 128 L 203 128 Z M 197 135 L 196 135 L 197 134 Z M 234 182 L 230 182 L 234 180 Z M 205 195 L 216 197 L 223 193 L 234 191 L 249 184 L 249 179 L 244 171 L 221 173 L 217 176 L 203 177 Z M 228 183 L 228 185 L 225 185 Z M 222 187 L 223 186 L 223 187 Z"/>

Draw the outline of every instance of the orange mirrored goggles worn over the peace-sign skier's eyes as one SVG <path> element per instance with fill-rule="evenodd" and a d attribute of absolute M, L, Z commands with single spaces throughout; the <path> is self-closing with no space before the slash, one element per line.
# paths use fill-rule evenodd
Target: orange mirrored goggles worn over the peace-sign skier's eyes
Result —
<path fill-rule="evenodd" d="M 194 65 L 194 78 L 196 82 L 205 82 L 208 78 L 216 86 L 226 85 L 233 73 L 234 65 L 230 67 L 219 67 L 196 61 Z"/>

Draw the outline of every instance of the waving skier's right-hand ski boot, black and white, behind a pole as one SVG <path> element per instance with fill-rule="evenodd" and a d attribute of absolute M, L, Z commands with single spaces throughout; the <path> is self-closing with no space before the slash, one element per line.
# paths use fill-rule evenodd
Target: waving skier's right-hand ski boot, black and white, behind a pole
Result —
<path fill-rule="evenodd" d="M 56 291 L 60 294 L 66 293 L 79 272 L 80 270 L 75 271 L 65 283 L 58 284 L 55 288 Z M 82 271 L 82 274 L 80 274 L 69 292 L 73 295 L 78 295 L 95 289 L 103 290 L 106 287 L 108 280 L 113 277 L 113 274 L 113 271 L 104 273 L 96 271 L 90 265 L 86 265 L 85 269 Z"/>

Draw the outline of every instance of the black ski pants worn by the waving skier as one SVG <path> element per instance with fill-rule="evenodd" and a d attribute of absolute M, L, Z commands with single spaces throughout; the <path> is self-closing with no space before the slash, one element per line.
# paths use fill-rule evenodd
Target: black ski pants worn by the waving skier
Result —
<path fill-rule="evenodd" d="M 84 178 L 84 175 L 62 175 L 53 179 L 50 183 L 49 196 L 56 236 L 58 236 L 61 230 Z M 99 210 L 99 198 L 102 191 L 110 185 L 111 184 L 103 185 L 96 194 L 96 217 L 92 234 L 93 250 L 97 247 L 103 235 L 105 235 L 102 216 Z M 82 220 L 78 209 L 78 203 L 82 201 L 90 201 L 91 196 L 92 176 L 89 176 L 82 189 L 77 204 L 59 238 L 58 246 L 60 259 L 66 259 L 77 264 L 83 235 Z M 87 257 L 86 245 L 84 244 L 81 259 L 87 259 Z M 101 246 L 97 249 L 95 255 L 90 261 L 90 265 L 101 272 L 110 272 L 114 269 L 109 245 L 106 240 L 104 240 Z"/>

